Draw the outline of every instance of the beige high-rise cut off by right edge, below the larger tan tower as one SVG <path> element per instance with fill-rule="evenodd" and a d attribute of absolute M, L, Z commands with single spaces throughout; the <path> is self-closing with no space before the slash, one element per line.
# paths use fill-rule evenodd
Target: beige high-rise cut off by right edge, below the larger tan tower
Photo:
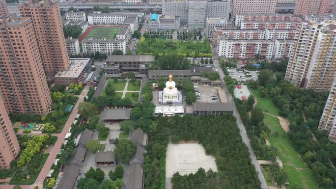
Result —
<path fill-rule="evenodd" d="M 336 80 L 330 90 L 326 105 L 318 125 L 319 130 L 326 130 L 328 138 L 336 142 Z"/>

